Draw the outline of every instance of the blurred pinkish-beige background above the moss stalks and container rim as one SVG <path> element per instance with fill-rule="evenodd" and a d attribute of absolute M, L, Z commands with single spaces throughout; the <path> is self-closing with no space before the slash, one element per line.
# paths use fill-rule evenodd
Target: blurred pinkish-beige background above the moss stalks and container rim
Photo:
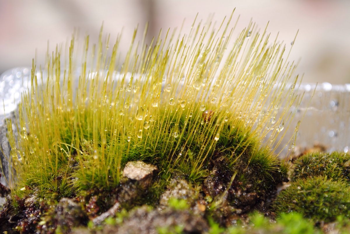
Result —
<path fill-rule="evenodd" d="M 221 23 L 236 8 L 236 32 L 250 20 L 267 28 L 274 38 L 287 44 L 299 29 L 290 61 L 299 61 L 297 73 L 303 82 L 350 83 L 350 1 L 349 0 L 0 0 L 0 73 L 18 66 L 43 64 L 48 49 L 70 40 L 74 29 L 97 41 L 103 23 L 104 33 L 116 40 L 123 29 L 121 52 L 125 53 L 134 28 L 139 38 L 149 22 L 147 41 L 163 28 L 180 28 L 188 33 L 197 13 L 204 21 L 209 15 Z M 199 22 L 199 21 L 197 21 Z M 233 26 L 233 24 L 232 24 Z M 149 43 L 148 43 L 149 44 Z"/>

